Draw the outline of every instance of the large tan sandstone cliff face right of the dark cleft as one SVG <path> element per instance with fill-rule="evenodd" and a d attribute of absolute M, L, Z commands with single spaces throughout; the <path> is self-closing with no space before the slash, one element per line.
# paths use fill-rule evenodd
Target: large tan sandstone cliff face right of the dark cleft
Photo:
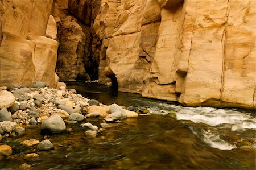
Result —
<path fill-rule="evenodd" d="M 122 92 L 186 106 L 256 108 L 256 2 L 101 1 L 105 74 Z M 238 12 L 239 11 L 239 12 Z"/>

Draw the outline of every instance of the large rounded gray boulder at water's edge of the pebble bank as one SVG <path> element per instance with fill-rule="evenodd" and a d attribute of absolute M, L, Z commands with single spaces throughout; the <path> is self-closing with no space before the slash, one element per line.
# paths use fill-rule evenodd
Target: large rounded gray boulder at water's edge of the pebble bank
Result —
<path fill-rule="evenodd" d="M 58 114 L 52 114 L 49 118 L 45 119 L 41 124 L 41 131 L 60 133 L 64 132 L 65 130 L 65 122 Z"/>

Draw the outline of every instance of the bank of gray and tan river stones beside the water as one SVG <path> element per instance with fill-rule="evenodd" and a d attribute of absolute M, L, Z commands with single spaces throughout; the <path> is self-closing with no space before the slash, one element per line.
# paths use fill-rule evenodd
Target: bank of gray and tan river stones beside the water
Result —
<path fill-rule="evenodd" d="M 64 84 L 63 84 L 64 85 Z M 19 137 L 26 134 L 26 126 L 40 125 L 42 134 L 57 134 L 73 131 L 67 124 L 81 123 L 86 128 L 86 138 L 96 138 L 98 132 L 112 127 L 110 123 L 119 123 L 127 117 L 138 117 L 143 111 L 133 111 L 117 104 L 106 106 L 97 100 L 76 94 L 75 89 L 50 89 L 45 82 L 36 82 L 31 88 L 0 88 L 0 140 Z M 89 122 L 89 118 L 99 117 L 102 123 L 97 127 Z M 37 150 L 52 150 L 50 140 L 24 140 L 20 145 L 31 147 L 37 145 Z M 0 159 L 12 154 L 12 148 L 6 144 L 0 145 Z M 36 153 L 24 155 L 24 159 L 38 157 Z M 30 167 L 22 165 L 21 168 Z"/>

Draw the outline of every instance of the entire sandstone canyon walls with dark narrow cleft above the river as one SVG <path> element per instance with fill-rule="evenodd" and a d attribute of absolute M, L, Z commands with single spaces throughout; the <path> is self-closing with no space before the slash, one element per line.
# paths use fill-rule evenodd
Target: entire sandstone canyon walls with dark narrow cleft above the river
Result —
<path fill-rule="evenodd" d="M 0 86 L 98 79 L 184 106 L 256 108 L 254 0 L 3 0 L 0 16 Z"/>

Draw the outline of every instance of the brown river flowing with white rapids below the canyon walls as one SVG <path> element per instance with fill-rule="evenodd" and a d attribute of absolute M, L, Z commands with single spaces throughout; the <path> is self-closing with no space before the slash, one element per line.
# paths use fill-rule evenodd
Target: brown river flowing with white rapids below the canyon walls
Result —
<path fill-rule="evenodd" d="M 183 107 L 178 103 L 116 93 L 102 85 L 69 84 L 85 97 L 109 105 L 118 103 L 148 109 L 150 113 L 113 123 L 97 138 L 84 136 L 85 128 L 68 125 L 72 132 L 41 135 L 39 126 L 28 126 L 26 135 L 3 140 L 14 154 L 1 160 L 1 169 L 255 169 L 256 117 L 253 110 Z M 176 119 L 174 119 L 176 117 Z M 103 118 L 90 118 L 99 126 Z M 19 145 L 26 139 L 47 138 L 52 151 Z M 36 152 L 39 158 L 24 160 Z"/>

